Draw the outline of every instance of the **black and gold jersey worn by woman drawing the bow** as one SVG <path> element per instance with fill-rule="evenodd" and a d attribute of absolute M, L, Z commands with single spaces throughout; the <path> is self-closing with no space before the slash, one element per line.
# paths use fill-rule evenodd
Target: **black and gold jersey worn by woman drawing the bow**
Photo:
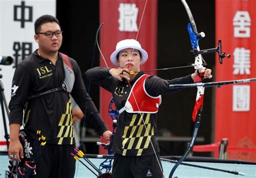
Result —
<path fill-rule="evenodd" d="M 114 104 L 120 110 L 124 107 L 131 88 L 126 81 L 120 82 L 118 79 L 112 77 L 109 74 L 109 69 L 101 67 L 89 69 L 86 72 L 86 77 L 107 91 L 110 91 L 114 98 Z M 143 74 L 145 73 L 139 72 L 136 75 L 134 80 L 130 82 L 131 87 Z M 178 90 L 170 89 L 170 84 L 185 83 L 193 83 L 191 75 L 173 80 L 164 80 L 157 76 L 149 76 L 145 81 L 145 90 L 147 94 L 157 97 Z M 154 154 L 154 150 L 159 152 L 156 139 L 156 116 L 157 113 L 128 113 L 126 111 L 120 113 L 112 147 L 113 151 L 129 156 L 150 155 Z"/>

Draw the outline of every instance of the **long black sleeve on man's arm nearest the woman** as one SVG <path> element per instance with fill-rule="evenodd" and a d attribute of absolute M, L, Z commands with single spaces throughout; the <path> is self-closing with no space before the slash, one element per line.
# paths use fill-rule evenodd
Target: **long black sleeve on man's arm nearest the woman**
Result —
<path fill-rule="evenodd" d="M 93 103 L 91 97 L 86 91 L 80 68 L 75 60 L 73 60 L 73 67 L 75 70 L 75 83 L 71 92 L 72 97 L 78 104 L 79 108 L 83 111 L 85 119 L 89 121 L 96 131 L 102 136 L 103 132 L 108 130 L 102 117 Z"/>

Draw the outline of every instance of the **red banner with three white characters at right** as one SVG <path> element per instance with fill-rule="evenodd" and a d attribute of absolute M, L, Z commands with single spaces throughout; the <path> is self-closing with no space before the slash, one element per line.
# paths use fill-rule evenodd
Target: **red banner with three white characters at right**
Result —
<path fill-rule="evenodd" d="M 216 0 L 216 39 L 231 54 L 216 65 L 216 81 L 256 77 L 254 0 Z M 215 143 L 228 138 L 228 146 L 256 148 L 256 83 L 234 84 L 216 89 Z M 255 153 L 228 153 L 230 159 L 256 161 Z"/>

